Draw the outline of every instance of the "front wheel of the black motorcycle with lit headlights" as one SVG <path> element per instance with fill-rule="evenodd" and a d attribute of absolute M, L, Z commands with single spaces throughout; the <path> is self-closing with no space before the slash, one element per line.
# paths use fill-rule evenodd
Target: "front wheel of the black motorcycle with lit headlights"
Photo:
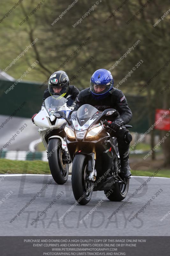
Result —
<path fill-rule="evenodd" d="M 88 177 L 88 159 L 83 154 L 78 154 L 73 159 L 71 184 L 75 199 L 79 204 L 87 204 L 93 192 L 92 182 Z"/>

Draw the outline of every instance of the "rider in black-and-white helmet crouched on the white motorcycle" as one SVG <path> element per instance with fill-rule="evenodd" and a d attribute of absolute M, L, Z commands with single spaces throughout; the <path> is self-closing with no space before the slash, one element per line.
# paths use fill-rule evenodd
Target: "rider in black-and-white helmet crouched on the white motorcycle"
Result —
<path fill-rule="evenodd" d="M 48 88 L 44 92 L 43 101 L 50 96 L 58 95 L 66 98 L 67 106 L 70 107 L 75 101 L 76 97 L 79 94 L 78 88 L 74 85 L 70 85 L 69 77 L 66 72 L 60 70 L 54 72 L 48 80 Z M 37 114 L 32 116 L 32 122 L 34 123 L 34 117 Z"/>

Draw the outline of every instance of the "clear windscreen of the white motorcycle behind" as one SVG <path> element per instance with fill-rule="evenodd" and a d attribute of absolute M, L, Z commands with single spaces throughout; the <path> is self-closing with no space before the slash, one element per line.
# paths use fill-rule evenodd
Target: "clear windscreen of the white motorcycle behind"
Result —
<path fill-rule="evenodd" d="M 44 100 L 42 106 L 51 115 L 51 111 L 57 111 L 61 106 L 63 106 L 68 100 L 62 96 L 54 95 L 50 96 Z M 53 113 L 54 114 L 54 113 Z"/>

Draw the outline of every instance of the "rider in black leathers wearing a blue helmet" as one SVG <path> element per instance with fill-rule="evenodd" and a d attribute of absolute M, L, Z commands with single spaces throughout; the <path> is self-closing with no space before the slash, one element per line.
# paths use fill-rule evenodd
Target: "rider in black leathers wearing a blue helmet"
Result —
<path fill-rule="evenodd" d="M 110 71 L 99 69 L 94 72 L 90 81 L 90 88 L 81 91 L 76 98 L 76 106 L 73 111 L 78 110 L 83 104 L 90 104 L 98 110 L 104 111 L 107 108 L 115 108 L 119 112 L 116 120 L 110 124 L 115 131 L 112 137 L 117 138 L 121 162 L 121 174 L 123 178 L 131 175 L 129 166 L 129 144 L 132 136 L 124 126 L 132 118 L 132 112 L 128 107 L 127 100 L 121 90 L 113 87 L 113 77 Z M 122 129 L 120 129 L 122 127 Z"/>

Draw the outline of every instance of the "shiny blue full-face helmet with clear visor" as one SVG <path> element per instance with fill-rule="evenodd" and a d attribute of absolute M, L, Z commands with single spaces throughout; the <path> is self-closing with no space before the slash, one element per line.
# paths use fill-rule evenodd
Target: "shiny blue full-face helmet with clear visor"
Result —
<path fill-rule="evenodd" d="M 114 80 L 110 71 L 100 68 L 90 79 L 90 92 L 95 99 L 104 99 L 112 90 L 113 84 Z"/>

